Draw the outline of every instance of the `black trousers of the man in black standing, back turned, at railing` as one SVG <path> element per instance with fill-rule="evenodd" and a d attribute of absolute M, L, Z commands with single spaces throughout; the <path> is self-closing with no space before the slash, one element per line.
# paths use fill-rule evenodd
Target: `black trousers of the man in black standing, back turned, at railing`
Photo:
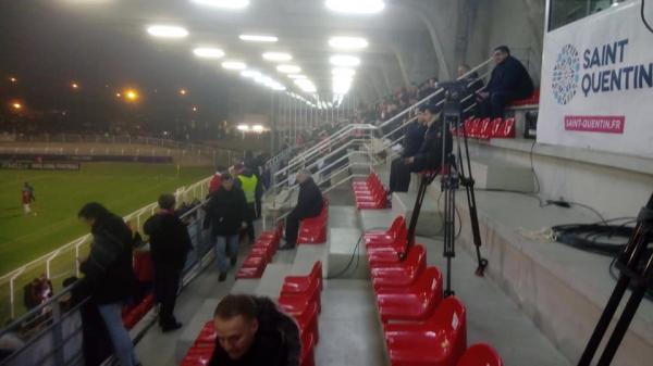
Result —
<path fill-rule="evenodd" d="M 180 288 L 182 269 L 169 265 L 155 265 L 155 295 L 161 304 L 159 324 L 169 326 L 176 323 L 174 305 Z"/>

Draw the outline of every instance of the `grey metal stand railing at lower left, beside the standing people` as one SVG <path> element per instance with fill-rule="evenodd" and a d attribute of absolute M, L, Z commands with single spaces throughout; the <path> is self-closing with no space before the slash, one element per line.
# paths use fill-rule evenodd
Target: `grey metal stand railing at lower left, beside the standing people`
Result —
<path fill-rule="evenodd" d="M 188 223 L 188 234 L 193 249 L 184 266 L 181 289 L 183 289 L 213 260 L 215 253 L 208 232 L 202 230 L 202 205 L 197 205 L 184 215 Z M 12 348 L 3 350 L 0 366 L 76 366 L 84 365 L 83 356 L 83 306 L 88 299 L 73 296 L 78 283 L 58 291 L 42 304 L 22 315 L 0 330 L 0 339 Z M 141 321 L 156 321 L 144 318 Z M 135 343 L 143 338 L 149 327 L 137 327 Z M 104 364 L 112 364 L 110 356 Z"/>

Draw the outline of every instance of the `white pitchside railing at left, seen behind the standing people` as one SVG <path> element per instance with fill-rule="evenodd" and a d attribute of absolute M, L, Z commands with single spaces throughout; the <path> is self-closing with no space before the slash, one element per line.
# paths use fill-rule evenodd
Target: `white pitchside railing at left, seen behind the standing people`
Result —
<path fill-rule="evenodd" d="M 209 181 L 211 178 L 202 179 L 187 187 L 178 188 L 174 194 L 177 203 L 190 204 L 194 201 L 201 202 L 209 191 Z M 134 231 L 143 232 L 145 220 L 156 212 L 157 203 L 148 204 L 126 216 L 127 225 Z M 20 316 L 24 311 L 20 293 L 23 287 L 34 278 L 46 275 L 53 281 L 56 288 L 59 288 L 58 281 L 66 277 L 79 275 L 78 263 L 82 257 L 88 254 L 90 244 L 90 235 L 77 238 L 59 249 L 34 260 L 20 268 L 16 268 L 0 277 L 0 317 L 2 321 Z"/>

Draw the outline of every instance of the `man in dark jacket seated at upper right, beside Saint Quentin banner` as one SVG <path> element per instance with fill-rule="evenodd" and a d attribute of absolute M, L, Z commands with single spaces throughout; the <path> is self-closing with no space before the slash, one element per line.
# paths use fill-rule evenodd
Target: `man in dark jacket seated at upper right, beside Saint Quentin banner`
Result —
<path fill-rule="evenodd" d="M 492 55 L 496 66 L 485 91 L 478 92 L 480 116 L 498 118 L 503 117 L 505 106 L 519 99 L 525 99 L 533 93 L 533 81 L 526 67 L 519 60 L 510 55 L 506 46 L 494 49 Z"/>

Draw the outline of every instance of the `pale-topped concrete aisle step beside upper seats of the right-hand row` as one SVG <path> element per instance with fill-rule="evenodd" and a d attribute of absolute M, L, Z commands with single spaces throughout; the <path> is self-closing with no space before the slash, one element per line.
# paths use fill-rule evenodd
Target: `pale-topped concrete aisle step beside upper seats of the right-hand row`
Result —
<path fill-rule="evenodd" d="M 361 230 L 357 228 L 332 228 L 329 232 L 326 275 L 329 278 L 368 279 L 369 269 L 365 245 L 357 243 Z"/>

